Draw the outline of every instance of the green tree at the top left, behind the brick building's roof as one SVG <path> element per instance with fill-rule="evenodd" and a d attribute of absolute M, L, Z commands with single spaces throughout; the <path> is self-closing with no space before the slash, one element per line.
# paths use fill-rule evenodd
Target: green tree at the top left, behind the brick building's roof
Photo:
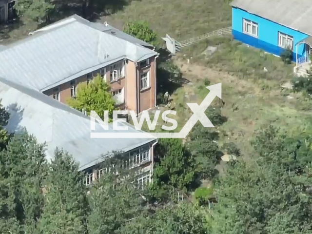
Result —
<path fill-rule="evenodd" d="M 16 4 L 20 16 L 39 23 L 49 22 L 49 17 L 55 10 L 52 0 L 18 0 Z"/>

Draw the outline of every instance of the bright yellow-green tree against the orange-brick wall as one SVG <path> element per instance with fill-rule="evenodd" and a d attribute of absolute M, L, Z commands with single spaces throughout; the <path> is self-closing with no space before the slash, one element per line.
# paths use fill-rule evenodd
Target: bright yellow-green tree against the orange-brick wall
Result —
<path fill-rule="evenodd" d="M 76 98 L 69 99 L 68 104 L 79 111 L 85 110 L 89 115 L 95 111 L 101 118 L 104 117 L 104 111 L 108 111 L 112 118 L 113 110 L 116 110 L 110 87 L 100 75 L 89 84 L 79 84 Z"/>

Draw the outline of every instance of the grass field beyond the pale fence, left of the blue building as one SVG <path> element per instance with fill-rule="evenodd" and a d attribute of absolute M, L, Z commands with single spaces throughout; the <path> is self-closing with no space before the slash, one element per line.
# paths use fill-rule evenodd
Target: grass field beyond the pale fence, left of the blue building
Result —
<path fill-rule="evenodd" d="M 120 29 L 132 20 L 147 20 L 159 37 L 188 39 L 230 26 L 231 7 L 228 0 L 137 0 L 101 19 Z"/>

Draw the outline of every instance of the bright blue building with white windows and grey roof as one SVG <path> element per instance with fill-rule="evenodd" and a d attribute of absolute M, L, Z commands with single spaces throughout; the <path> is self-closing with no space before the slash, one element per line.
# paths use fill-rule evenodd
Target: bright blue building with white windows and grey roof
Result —
<path fill-rule="evenodd" d="M 279 56 L 291 48 L 300 67 L 310 66 L 312 0 L 233 0 L 234 39 Z"/>

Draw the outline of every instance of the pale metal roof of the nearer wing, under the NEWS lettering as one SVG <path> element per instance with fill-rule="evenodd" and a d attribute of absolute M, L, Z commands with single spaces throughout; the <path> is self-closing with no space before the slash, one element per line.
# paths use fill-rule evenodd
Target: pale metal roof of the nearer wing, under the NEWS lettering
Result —
<path fill-rule="evenodd" d="M 87 169 L 103 161 L 112 152 L 127 152 L 156 138 L 99 139 L 90 137 L 90 118 L 79 111 L 50 98 L 39 91 L 0 78 L 1 104 L 10 112 L 6 129 L 20 132 L 26 128 L 39 143 L 46 142 L 48 160 L 54 157 L 58 147 L 71 154 L 79 163 L 80 170 Z M 132 125 L 124 132 L 136 133 Z M 96 123 L 96 132 L 103 132 Z M 117 132 L 112 129 L 105 132 Z M 119 131 L 120 132 L 120 131 Z"/>

